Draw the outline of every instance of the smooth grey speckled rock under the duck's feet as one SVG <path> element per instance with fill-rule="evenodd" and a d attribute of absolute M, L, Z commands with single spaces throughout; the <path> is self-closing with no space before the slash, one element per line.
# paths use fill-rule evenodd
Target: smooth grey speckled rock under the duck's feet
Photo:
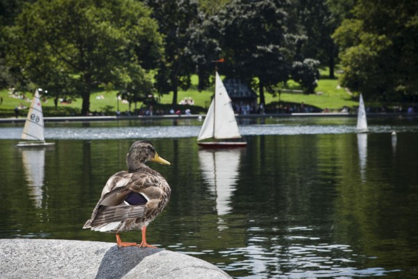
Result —
<path fill-rule="evenodd" d="M 0 239 L 0 278 L 231 278 L 201 259 L 163 249 L 52 239 Z"/>

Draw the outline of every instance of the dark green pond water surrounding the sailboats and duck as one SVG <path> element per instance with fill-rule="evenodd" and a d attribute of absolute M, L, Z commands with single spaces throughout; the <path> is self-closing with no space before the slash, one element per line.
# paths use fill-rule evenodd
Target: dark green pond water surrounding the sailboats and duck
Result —
<path fill-rule="evenodd" d="M 116 242 L 82 226 L 151 139 L 172 195 L 149 243 L 234 278 L 418 277 L 417 119 L 370 119 L 366 134 L 350 118 L 240 124 L 247 148 L 219 151 L 198 148 L 190 119 L 47 123 L 49 149 L 15 148 L 23 124 L 2 125 L 0 237 Z"/>

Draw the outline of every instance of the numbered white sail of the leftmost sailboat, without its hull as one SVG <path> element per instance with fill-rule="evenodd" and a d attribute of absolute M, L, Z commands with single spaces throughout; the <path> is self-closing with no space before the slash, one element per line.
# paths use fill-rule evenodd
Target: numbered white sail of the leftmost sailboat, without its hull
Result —
<path fill-rule="evenodd" d="M 24 123 L 22 139 L 45 140 L 42 106 L 40 105 L 38 90 L 35 91 L 35 96 L 33 96 L 31 107 Z"/>

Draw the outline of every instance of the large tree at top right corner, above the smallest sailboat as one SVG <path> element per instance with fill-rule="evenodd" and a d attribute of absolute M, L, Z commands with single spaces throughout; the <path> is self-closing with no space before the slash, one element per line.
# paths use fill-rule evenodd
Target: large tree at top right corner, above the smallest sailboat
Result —
<path fill-rule="evenodd" d="M 417 100 L 418 2 L 358 0 L 353 18 L 333 38 L 340 46 L 341 84 L 380 100 Z"/>

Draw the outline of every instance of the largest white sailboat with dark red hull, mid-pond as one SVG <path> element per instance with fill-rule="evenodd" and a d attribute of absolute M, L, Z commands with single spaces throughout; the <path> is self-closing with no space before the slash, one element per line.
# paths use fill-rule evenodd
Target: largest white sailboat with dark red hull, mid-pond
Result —
<path fill-rule="evenodd" d="M 231 98 L 226 92 L 224 83 L 217 72 L 215 77 L 215 95 L 203 121 L 202 128 L 197 137 L 199 146 L 210 148 L 240 147 L 246 146 L 247 142 L 219 142 L 218 140 L 240 138 L 240 130 L 235 119 L 231 105 Z M 199 142 L 213 138 L 212 142 Z"/>

